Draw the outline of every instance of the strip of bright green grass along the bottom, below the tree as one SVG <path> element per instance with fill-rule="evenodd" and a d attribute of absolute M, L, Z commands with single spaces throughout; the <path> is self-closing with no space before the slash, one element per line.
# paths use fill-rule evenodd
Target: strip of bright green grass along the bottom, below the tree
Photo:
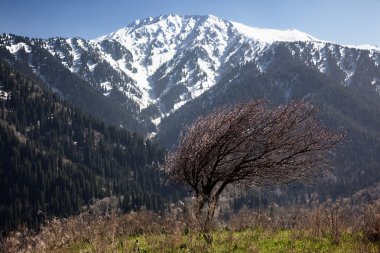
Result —
<path fill-rule="evenodd" d="M 344 233 L 338 242 L 329 236 L 315 237 L 305 231 L 262 229 L 211 232 L 208 244 L 199 233 L 152 234 L 117 238 L 105 245 L 72 243 L 62 252 L 378 252 L 379 246 L 364 242 L 360 234 Z"/>

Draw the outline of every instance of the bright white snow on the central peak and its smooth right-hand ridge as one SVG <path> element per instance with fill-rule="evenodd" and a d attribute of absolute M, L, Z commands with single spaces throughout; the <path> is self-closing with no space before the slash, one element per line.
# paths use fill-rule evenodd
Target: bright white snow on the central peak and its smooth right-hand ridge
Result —
<path fill-rule="evenodd" d="M 102 55 L 110 65 L 136 81 L 142 94 L 142 109 L 156 104 L 161 111 L 170 113 L 214 86 L 228 67 L 226 62 L 236 67 L 251 61 L 256 52 L 276 41 L 309 40 L 316 39 L 297 30 L 250 28 L 212 15 L 170 14 L 135 21 L 91 43 L 101 51 L 102 42 L 117 41 L 130 51 L 134 71 L 124 67 L 124 60 L 105 52 Z M 266 64 L 262 62 L 260 69 L 265 69 Z M 165 108 L 162 100 L 172 95 L 174 87 L 181 91 Z"/>

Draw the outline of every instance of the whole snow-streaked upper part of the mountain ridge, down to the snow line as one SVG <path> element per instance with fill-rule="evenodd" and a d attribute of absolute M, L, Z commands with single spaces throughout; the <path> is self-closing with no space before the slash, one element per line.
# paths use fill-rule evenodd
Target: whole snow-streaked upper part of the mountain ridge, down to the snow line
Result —
<path fill-rule="evenodd" d="M 30 45 L 6 38 L 2 44 L 16 57 L 31 54 Z M 285 56 L 380 95 L 378 47 L 341 46 L 298 30 L 252 28 L 212 15 L 147 18 L 94 40 L 52 38 L 39 46 L 104 96 L 128 105 L 136 118 L 142 113 L 156 125 L 224 77 L 233 82 L 241 66 L 265 73 Z"/>

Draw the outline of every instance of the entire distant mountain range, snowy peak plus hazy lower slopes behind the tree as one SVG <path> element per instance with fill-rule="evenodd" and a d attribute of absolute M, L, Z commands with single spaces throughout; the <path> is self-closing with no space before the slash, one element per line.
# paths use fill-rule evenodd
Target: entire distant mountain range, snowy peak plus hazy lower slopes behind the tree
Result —
<path fill-rule="evenodd" d="M 347 131 L 334 154 L 335 170 L 306 191 L 342 197 L 380 182 L 377 46 L 170 14 L 93 40 L 3 34 L 0 59 L 82 111 L 166 148 L 186 125 L 220 106 L 254 98 L 271 106 L 306 100 L 326 125 Z M 0 95 L 10 96 L 1 83 Z M 283 196 L 276 201 L 290 198 Z"/>

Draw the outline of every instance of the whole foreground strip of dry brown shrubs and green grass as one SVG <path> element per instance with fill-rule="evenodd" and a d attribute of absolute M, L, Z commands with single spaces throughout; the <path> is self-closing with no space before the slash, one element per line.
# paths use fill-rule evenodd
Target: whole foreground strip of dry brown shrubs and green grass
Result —
<path fill-rule="evenodd" d="M 82 214 L 20 229 L 1 241 L 4 252 L 380 252 L 380 201 L 348 200 L 252 211 L 218 220 L 205 234 L 186 207 Z"/>

